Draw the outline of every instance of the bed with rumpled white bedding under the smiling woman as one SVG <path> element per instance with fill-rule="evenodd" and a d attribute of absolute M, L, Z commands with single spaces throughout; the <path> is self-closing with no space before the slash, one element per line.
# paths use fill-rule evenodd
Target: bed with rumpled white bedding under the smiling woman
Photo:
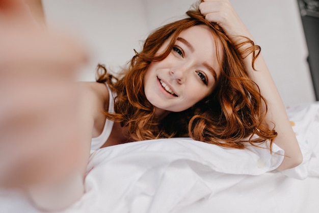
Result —
<path fill-rule="evenodd" d="M 304 161 L 276 171 L 283 150 L 225 149 L 170 138 L 92 152 L 86 193 L 62 212 L 319 212 L 319 102 L 287 108 Z M 262 146 L 267 147 L 268 144 Z M 0 212 L 39 212 L 17 191 Z"/>

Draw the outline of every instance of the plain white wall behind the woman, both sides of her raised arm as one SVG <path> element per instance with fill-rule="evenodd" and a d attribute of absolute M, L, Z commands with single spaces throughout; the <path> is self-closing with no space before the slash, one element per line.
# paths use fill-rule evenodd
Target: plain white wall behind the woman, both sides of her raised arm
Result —
<path fill-rule="evenodd" d="M 98 62 L 117 70 L 150 30 L 178 19 L 195 0 L 42 0 L 49 23 L 78 32 L 92 52 L 83 80 Z M 230 0 L 261 46 L 285 105 L 314 101 L 297 0 Z"/>

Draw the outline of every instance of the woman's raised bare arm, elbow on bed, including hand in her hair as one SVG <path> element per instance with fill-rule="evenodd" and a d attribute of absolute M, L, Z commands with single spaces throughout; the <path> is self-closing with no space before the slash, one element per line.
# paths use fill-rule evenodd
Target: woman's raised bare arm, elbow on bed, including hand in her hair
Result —
<path fill-rule="evenodd" d="M 254 41 L 228 0 L 205 0 L 199 5 L 199 9 L 207 20 L 217 22 L 235 44 L 243 41 L 244 38 L 241 36 Z M 258 85 L 262 96 L 267 100 L 267 119 L 270 125 L 275 125 L 275 130 L 278 133 L 274 143 L 285 152 L 284 160 L 277 170 L 294 168 L 302 162 L 297 138 L 291 128 L 284 104 L 262 55 L 260 54 L 255 60 L 254 67 L 256 70 L 252 67 L 252 57 L 253 54 L 251 53 L 244 59 L 245 66 L 250 78 Z"/>

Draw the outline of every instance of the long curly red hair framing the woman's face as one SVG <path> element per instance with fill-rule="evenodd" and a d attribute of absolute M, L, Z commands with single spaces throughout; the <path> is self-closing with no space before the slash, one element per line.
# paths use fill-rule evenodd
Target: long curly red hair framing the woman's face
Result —
<path fill-rule="evenodd" d="M 206 143 L 237 149 L 244 149 L 247 142 L 255 146 L 256 143 L 270 140 L 272 145 L 277 133 L 265 121 L 266 101 L 258 86 L 249 78 L 243 63 L 243 58 L 252 53 L 254 68 L 260 46 L 248 38 L 242 43 L 232 43 L 220 26 L 204 18 L 198 6 L 186 14 L 188 17 L 152 32 L 145 40 L 142 51 L 136 52 L 128 67 L 123 70 L 121 78 L 108 74 L 103 65 L 97 66 L 96 81 L 108 83 L 117 93 L 115 113 L 105 112 L 107 119 L 121 122 L 134 140 L 189 136 Z M 181 112 L 170 112 L 158 121 L 154 118 L 154 106 L 144 93 L 146 70 L 152 61 L 161 61 L 169 55 L 180 32 L 197 25 L 208 26 L 216 46 L 221 45 L 223 48 L 222 58 L 216 50 L 221 67 L 218 85 L 209 97 L 195 106 Z M 166 50 L 156 55 L 167 40 L 169 45 Z M 248 43 L 250 47 L 243 48 Z"/>

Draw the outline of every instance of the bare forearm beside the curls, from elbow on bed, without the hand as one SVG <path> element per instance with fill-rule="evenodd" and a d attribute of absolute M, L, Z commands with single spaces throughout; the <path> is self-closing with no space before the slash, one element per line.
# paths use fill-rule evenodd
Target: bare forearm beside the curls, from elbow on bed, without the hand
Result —
<path fill-rule="evenodd" d="M 253 39 L 248 33 L 246 36 Z M 261 54 L 254 63 L 256 70 L 252 67 L 252 54 L 248 55 L 244 62 L 250 78 L 258 85 L 262 96 L 267 100 L 267 120 L 270 125 L 275 125 L 274 128 L 278 133 L 274 143 L 285 152 L 284 160 L 278 170 L 294 168 L 302 162 L 302 154 L 269 69 Z"/>

